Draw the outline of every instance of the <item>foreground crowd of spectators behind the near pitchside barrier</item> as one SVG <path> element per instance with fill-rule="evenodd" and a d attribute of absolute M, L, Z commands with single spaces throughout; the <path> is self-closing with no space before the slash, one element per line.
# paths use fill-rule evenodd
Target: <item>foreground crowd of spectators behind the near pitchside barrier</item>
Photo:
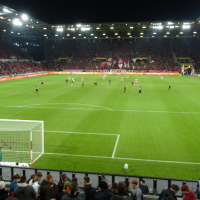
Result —
<path fill-rule="evenodd" d="M 137 180 L 120 181 L 110 183 L 106 180 L 99 182 L 97 188 L 93 187 L 88 176 L 83 178 L 84 187 L 78 187 L 78 179 L 72 180 L 62 173 L 60 181 L 56 185 L 53 176 L 48 174 L 42 180 L 42 173 L 36 172 L 27 181 L 25 176 L 15 174 L 10 184 L 10 190 L 6 189 L 6 183 L 0 181 L 0 200 L 143 200 L 143 195 L 149 195 L 148 186 L 144 180 L 139 185 Z M 42 180 L 42 181 L 41 181 Z M 172 185 L 164 189 L 158 200 L 177 200 L 176 193 L 179 186 Z M 183 200 L 196 200 L 195 194 L 184 184 L 181 187 L 184 194 Z"/>

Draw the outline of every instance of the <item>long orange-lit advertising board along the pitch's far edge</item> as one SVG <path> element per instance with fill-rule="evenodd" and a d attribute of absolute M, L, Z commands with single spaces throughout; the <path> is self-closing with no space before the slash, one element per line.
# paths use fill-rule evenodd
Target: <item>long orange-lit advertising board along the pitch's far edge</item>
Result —
<path fill-rule="evenodd" d="M 179 73 L 150 73 L 150 72 L 45 72 L 37 74 L 28 74 L 23 76 L 15 76 L 8 78 L 0 78 L 0 81 L 9 81 L 21 78 L 29 78 L 34 76 L 43 76 L 49 74 L 94 74 L 94 75 L 105 75 L 105 74 L 115 74 L 115 75 L 179 75 Z"/>

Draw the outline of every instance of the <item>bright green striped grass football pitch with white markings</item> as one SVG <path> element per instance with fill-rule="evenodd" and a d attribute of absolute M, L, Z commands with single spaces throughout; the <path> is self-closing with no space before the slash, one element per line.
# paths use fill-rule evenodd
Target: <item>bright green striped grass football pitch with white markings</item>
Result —
<path fill-rule="evenodd" d="M 1 119 L 44 121 L 45 154 L 34 167 L 125 174 L 128 163 L 131 175 L 198 179 L 198 78 L 108 75 L 103 81 L 100 75 L 71 75 L 74 85 L 66 78 L 0 82 Z"/>

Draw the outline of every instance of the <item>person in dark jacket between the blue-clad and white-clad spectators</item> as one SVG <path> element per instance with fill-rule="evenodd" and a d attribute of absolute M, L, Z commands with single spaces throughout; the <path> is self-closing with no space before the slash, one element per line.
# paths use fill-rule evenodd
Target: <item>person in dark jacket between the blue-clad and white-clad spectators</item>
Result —
<path fill-rule="evenodd" d="M 33 187 L 26 183 L 25 176 L 20 178 L 20 184 L 17 188 L 15 188 L 13 197 L 17 197 L 20 200 L 35 200 L 36 193 Z"/>

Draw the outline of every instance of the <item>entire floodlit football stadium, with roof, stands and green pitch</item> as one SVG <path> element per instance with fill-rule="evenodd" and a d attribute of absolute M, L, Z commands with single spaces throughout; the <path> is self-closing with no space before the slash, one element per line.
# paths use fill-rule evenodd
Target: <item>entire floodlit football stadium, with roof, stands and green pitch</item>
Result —
<path fill-rule="evenodd" d="M 200 18 L 49 24 L 0 10 L 2 181 L 39 171 L 197 192 Z"/>

